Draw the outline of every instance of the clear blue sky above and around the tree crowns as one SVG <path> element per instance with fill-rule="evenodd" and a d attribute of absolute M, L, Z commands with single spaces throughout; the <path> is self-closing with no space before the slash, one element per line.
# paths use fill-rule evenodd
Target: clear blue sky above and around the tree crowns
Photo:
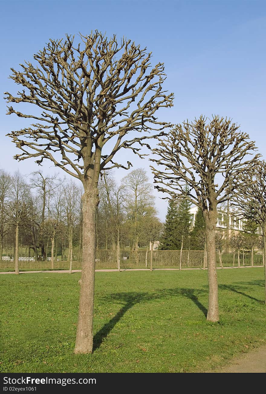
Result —
<path fill-rule="evenodd" d="M 179 123 L 201 113 L 231 117 L 266 158 L 266 1 L 9 0 L 0 1 L 0 7 L 2 96 L 17 91 L 8 79 L 10 67 L 30 61 L 50 38 L 98 29 L 147 46 L 154 64 L 165 63 L 165 89 L 175 99 L 174 107 L 161 113 L 164 120 Z M 20 128 L 21 120 L 5 114 L 1 99 L 0 168 L 28 174 L 38 168 L 34 160 L 13 160 L 18 152 L 5 136 Z M 148 160 L 130 161 L 133 169 L 146 168 L 152 180 Z M 50 163 L 43 170 L 55 171 Z M 125 175 L 116 171 L 117 180 Z M 156 201 L 164 219 L 167 203 Z"/>

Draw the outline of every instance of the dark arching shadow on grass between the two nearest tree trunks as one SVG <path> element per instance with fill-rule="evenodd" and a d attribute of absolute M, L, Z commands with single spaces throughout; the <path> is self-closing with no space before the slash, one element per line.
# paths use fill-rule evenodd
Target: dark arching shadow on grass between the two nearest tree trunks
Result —
<path fill-rule="evenodd" d="M 110 294 L 107 297 L 104 297 L 104 301 L 117 301 L 119 303 L 124 303 L 125 305 L 117 312 L 116 316 L 114 316 L 108 323 L 106 323 L 93 338 L 93 351 L 98 349 L 104 338 L 112 331 L 117 322 L 124 316 L 128 309 L 132 308 L 134 305 L 138 303 L 148 302 L 157 299 L 163 299 L 165 297 L 173 297 L 173 296 L 184 296 L 191 301 L 202 311 L 202 313 L 207 316 L 207 309 L 198 301 L 199 295 L 205 295 L 207 293 L 206 290 L 198 290 L 198 289 L 185 289 L 185 288 L 176 288 L 176 289 L 163 289 L 159 290 L 156 293 L 114 293 Z"/>

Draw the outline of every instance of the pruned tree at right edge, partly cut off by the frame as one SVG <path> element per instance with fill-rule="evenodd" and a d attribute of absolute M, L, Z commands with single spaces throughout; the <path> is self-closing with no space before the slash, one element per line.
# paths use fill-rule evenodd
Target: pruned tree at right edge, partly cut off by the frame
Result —
<path fill-rule="evenodd" d="M 244 184 L 244 187 L 242 185 Z M 266 160 L 257 160 L 246 166 L 237 186 L 235 205 L 242 215 L 262 229 L 264 262 L 266 256 Z M 265 303 L 266 303 L 266 269 L 265 275 Z"/>

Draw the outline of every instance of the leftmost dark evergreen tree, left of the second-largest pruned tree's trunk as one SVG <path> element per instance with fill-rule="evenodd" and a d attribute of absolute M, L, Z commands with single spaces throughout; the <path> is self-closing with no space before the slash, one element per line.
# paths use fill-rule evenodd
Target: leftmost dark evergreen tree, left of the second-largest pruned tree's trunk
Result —
<path fill-rule="evenodd" d="M 161 250 L 175 250 L 176 245 L 176 232 L 177 232 L 177 222 L 176 222 L 177 206 L 174 199 L 169 200 L 169 205 L 167 208 L 167 214 L 165 217 L 165 225 L 163 234 L 160 239 L 159 249 Z"/>

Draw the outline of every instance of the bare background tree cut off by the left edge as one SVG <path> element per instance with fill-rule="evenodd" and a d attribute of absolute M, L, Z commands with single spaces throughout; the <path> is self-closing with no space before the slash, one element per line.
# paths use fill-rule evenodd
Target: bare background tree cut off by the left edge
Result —
<path fill-rule="evenodd" d="M 4 237 L 8 231 L 8 201 L 11 197 L 11 177 L 10 175 L 0 169 L 0 262 L 3 255 Z"/>

